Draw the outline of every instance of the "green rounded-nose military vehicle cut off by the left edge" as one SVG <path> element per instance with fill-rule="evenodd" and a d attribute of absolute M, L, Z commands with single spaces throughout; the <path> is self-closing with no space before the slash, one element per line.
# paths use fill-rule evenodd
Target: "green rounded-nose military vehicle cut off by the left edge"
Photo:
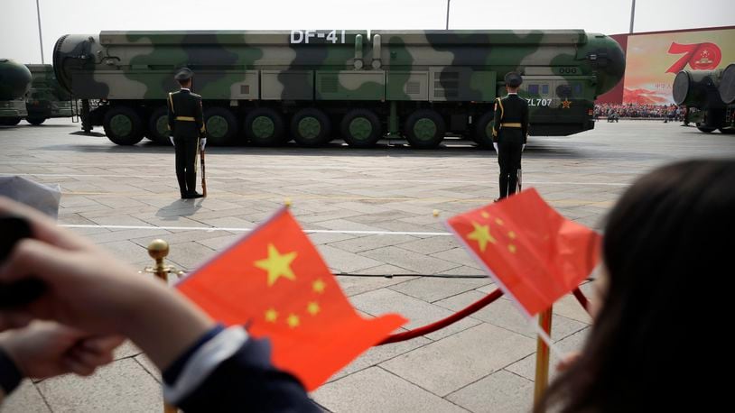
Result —
<path fill-rule="evenodd" d="M 28 115 L 25 94 L 31 87 L 31 71 L 22 64 L 0 59 L 0 125 L 12 126 Z"/>

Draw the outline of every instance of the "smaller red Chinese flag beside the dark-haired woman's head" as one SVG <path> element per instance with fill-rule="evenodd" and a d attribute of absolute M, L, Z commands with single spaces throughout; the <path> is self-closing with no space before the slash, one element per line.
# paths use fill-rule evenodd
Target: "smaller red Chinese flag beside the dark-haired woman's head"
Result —
<path fill-rule="evenodd" d="M 447 225 L 529 317 L 576 288 L 600 257 L 600 235 L 561 216 L 534 188 Z"/>

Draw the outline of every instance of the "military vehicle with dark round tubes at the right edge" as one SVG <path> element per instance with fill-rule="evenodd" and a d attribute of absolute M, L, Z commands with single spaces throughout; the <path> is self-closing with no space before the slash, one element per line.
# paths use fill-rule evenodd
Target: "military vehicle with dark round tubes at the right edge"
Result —
<path fill-rule="evenodd" d="M 676 105 L 690 109 L 686 121 L 700 131 L 735 133 L 735 63 L 725 69 L 682 70 L 672 92 Z"/>

